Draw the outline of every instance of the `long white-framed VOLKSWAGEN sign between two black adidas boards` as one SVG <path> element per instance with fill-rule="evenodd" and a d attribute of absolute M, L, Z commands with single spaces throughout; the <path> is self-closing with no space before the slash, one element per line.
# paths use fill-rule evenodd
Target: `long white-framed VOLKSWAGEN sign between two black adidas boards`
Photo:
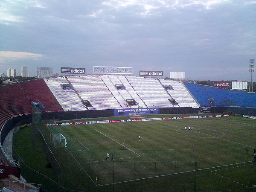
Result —
<path fill-rule="evenodd" d="M 93 66 L 93 73 L 98 74 L 129 74 L 132 75 L 132 67 L 101 67 Z"/>

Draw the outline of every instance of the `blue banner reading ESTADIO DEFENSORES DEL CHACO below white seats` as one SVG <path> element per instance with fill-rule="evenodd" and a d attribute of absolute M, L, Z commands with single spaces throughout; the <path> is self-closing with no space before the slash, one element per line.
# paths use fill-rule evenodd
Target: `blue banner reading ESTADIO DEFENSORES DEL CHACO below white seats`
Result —
<path fill-rule="evenodd" d="M 158 115 L 158 108 L 114 109 L 115 116 Z"/>

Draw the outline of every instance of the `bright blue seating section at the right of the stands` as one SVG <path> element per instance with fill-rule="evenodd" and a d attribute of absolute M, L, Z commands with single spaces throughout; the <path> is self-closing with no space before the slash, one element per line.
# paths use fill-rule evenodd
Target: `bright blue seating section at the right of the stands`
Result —
<path fill-rule="evenodd" d="M 200 84 L 184 83 L 201 106 L 210 106 L 208 99 L 213 99 L 212 106 L 256 108 L 256 94 L 242 90 L 227 90 Z"/>

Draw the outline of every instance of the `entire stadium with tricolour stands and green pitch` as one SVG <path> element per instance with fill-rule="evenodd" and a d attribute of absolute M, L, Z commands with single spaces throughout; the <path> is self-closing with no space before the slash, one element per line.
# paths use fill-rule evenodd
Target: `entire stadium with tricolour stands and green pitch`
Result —
<path fill-rule="evenodd" d="M 256 190 L 253 93 L 156 77 L 78 75 L 3 86 L 0 95 L 1 169 L 38 183 L 35 190 Z M 29 127 L 25 136 L 35 151 L 44 149 L 52 178 L 24 163 L 17 145 L 13 157 L 6 154 L 10 131 L 19 138 Z"/>

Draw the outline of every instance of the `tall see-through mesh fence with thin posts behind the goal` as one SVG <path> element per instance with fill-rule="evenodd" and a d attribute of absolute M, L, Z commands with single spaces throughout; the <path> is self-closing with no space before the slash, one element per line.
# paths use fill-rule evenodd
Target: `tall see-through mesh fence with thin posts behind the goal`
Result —
<path fill-rule="evenodd" d="M 41 133 L 50 157 L 54 157 L 52 166 L 59 167 L 57 183 L 66 189 L 195 190 L 196 160 L 192 150 L 92 148 L 74 140 L 59 126 L 45 126 Z M 189 180 L 190 185 L 184 180 Z"/>

